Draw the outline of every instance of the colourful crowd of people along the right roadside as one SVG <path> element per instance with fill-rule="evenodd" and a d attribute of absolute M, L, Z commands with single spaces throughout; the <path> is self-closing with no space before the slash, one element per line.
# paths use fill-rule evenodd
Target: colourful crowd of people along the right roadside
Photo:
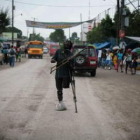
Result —
<path fill-rule="evenodd" d="M 132 75 L 136 74 L 140 55 L 133 53 L 131 49 L 123 50 L 99 50 L 98 51 L 98 67 L 111 70 L 115 69 L 117 72 L 127 74 L 128 68 Z"/>

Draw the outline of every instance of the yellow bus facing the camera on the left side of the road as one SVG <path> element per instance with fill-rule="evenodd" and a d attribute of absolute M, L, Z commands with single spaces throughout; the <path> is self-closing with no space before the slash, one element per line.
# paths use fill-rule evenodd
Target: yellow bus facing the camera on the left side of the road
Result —
<path fill-rule="evenodd" d="M 43 58 L 43 42 L 30 41 L 28 42 L 28 58 L 39 57 Z"/>

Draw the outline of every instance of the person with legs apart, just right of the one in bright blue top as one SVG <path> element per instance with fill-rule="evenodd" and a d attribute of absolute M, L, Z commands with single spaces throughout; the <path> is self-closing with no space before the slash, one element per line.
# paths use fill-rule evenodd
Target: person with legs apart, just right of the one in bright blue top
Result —
<path fill-rule="evenodd" d="M 125 73 L 127 74 L 127 69 L 128 67 L 131 70 L 131 74 L 132 74 L 132 53 L 131 53 L 131 49 L 128 49 L 125 55 L 125 59 L 126 59 L 126 66 L 125 66 Z"/>

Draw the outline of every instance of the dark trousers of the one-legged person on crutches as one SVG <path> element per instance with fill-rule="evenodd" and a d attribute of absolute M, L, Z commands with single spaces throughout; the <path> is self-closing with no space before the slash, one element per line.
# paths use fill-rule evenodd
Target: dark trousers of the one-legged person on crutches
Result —
<path fill-rule="evenodd" d="M 69 88 L 70 77 L 55 78 L 55 81 L 56 81 L 58 100 L 62 101 L 63 100 L 63 88 Z"/>

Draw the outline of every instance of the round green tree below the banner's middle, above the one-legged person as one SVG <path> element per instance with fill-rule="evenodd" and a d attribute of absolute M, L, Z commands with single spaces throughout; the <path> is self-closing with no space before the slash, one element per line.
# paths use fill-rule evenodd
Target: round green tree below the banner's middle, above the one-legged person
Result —
<path fill-rule="evenodd" d="M 66 39 L 64 31 L 62 29 L 56 29 L 53 33 L 50 34 L 49 38 L 51 39 L 51 41 L 60 43 L 64 42 L 64 40 Z"/>

